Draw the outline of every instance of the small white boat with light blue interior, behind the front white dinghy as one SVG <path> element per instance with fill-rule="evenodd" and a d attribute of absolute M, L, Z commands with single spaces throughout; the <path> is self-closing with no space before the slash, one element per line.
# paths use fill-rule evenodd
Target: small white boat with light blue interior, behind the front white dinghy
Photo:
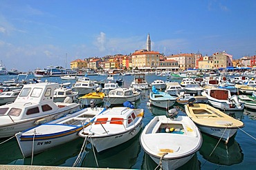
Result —
<path fill-rule="evenodd" d="M 151 105 L 165 109 L 172 107 L 176 102 L 176 97 L 165 92 L 158 92 L 154 86 L 152 87 L 152 92 L 150 92 L 149 98 Z"/>

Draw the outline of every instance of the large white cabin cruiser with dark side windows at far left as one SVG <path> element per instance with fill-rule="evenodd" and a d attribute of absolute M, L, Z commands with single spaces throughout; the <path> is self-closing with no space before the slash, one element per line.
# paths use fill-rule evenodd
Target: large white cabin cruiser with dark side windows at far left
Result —
<path fill-rule="evenodd" d="M 57 83 L 24 85 L 14 103 L 0 106 L 0 138 L 49 122 L 80 109 L 77 103 L 54 103 Z"/>

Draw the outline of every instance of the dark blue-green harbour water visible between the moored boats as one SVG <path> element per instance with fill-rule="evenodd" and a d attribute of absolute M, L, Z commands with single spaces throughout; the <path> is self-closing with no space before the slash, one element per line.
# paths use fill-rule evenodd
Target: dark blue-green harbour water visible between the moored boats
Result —
<path fill-rule="evenodd" d="M 0 76 L 0 82 L 17 76 Z M 34 78 L 30 75 L 28 78 Z M 100 81 L 106 76 L 89 76 L 92 80 Z M 124 87 L 129 87 L 134 76 L 123 76 Z M 152 83 L 156 79 L 166 81 L 166 77 L 148 75 L 147 82 Z M 42 78 L 42 81 L 62 81 L 60 77 Z M 71 81 L 75 83 L 75 81 Z M 137 108 L 145 109 L 144 126 L 158 115 L 166 114 L 165 109 L 147 107 L 149 90 L 143 92 L 141 100 L 135 103 Z M 179 108 L 179 114 L 185 115 L 182 105 L 175 105 Z M 238 130 L 235 138 L 232 138 L 228 145 L 203 134 L 203 145 L 194 157 L 179 169 L 256 169 L 256 111 L 231 111 L 232 116 L 240 118 L 245 127 Z M 251 137 L 253 136 L 253 137 Z M 3 140 L 0 140 L 2 142 Z M 60 145 L 33 157 L 33 165 L 72 167 L 80 153 L 84 139 L 78 138 L 64 145 Z M 188 143 L 188 145 L 190 145 Z M 217 147 L 216 147 L 217 145 Z M 216 147 L 216 148 L 215 148 Z M 215 148 L 215 149 L 214 149 Z M 214 150 L 214 151 L 213 151 Z M 31 164 L 31 157 L 23 158 L 15 138 L 0 145 L 0 164 Z M 98 164 L 98 165 L 97 165 Z M 102 153 L 93 153 L 91 145 L 86 145 L 81 161 L 77 167 L 100 167 L 116 169 L 155 169 L 158 166 L 140 147 L 139 134 L 118 147 L 108 149 Z"/>

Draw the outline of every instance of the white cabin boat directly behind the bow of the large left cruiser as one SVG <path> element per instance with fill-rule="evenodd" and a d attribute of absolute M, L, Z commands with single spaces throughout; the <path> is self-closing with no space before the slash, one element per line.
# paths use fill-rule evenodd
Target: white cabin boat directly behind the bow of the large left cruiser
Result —
<path fill-rule="evenodd" d="M 60 87 L 57 87 L 54 90 L 53 101 L 54 102 L 64 102 L 64 100 L 68 97 L 72 100 L 77 99 L 78 92 L 74 92 L 71 87 L 69 87 L 71 83 L 62 83 Z"/>

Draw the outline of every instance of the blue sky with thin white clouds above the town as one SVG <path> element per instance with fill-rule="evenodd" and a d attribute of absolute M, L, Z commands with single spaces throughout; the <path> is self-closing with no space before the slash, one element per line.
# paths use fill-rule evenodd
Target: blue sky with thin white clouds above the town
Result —
<path fill-rule="evenodd" d="M 0 0 L 0 60 L 7 70 L 70 67 L 75 59 L 131 54 L 256 54 L 256 1 Z"/>

